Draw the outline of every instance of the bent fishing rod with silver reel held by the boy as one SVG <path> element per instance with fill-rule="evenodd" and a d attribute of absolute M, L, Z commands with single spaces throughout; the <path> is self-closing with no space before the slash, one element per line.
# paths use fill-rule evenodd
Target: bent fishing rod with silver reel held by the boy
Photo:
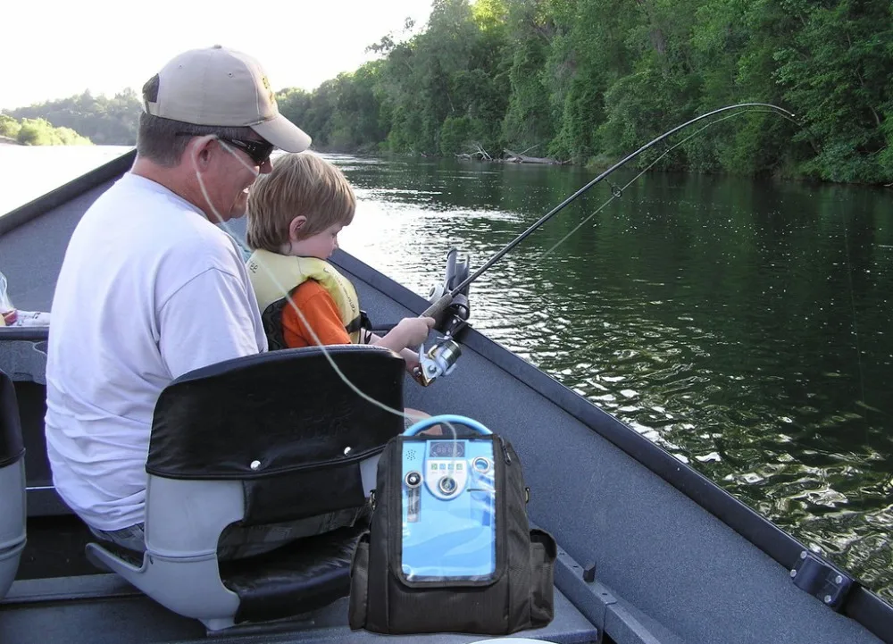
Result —
<path fill-rule="evenodd" d="M 595 179 L 589 181 L 585 186 L 578 189 L 575 193 L 573 193 L 570 197 L 564 199 L 562 203 L 556 205 L 555 208 L 550 210 L 548 213 L 544 214 L 539 220 L 533 223 L 530 228 L 524 230 L 518 237 L 514 238 L 508 244 L 505 245 L 502 249 L 500 249 L 495 255 L 490 257 L 485 263 L 483 263 L 480 268 L 473 272 L 472 275 L 465 277 L 463 280 L 459 281 L 452 288 L 444 289 L 443 295 L 441 295 L 437 301 L 435 301 L 432 305 L 430 305 L 425 311 L 421 314 L 420 317 L 432 317 L 435 320 L 440 320 L 444 313 L 447 312 L 447 309 L 454 305 L 454 298 L 457 296 L 462 296 L 464 292 L 467 291 L 469 284 L 472 281 L 477 280 L 485 271 L 487 271 L 493 264 L 497 263 L 502 257 L 508 253 L 513 247 L 516 247 L 520 244 L 524 239 L 528 238 L 530 234 L 537 230 L 544 223 L 548 222 L 552 217 L 554 217 L 557 213 L 560 213 L 567 205 L 570 205 L 572 201 L 574 201 L 577 197 L 580 197 L 584 193 L 588 191 L 589 188 L 594 187 L 597 183 L 605 180 L 608 176 L 610 176 L 613 171 L 616 171 L 622 168 L 623 165 L 629 163 L 633 159 L 635 159 L 638 155 L 641 155 L 645 152 L 649 147 L 655 146 L 655 144 L 663 141 L 664 138 L 670 137 L 676 132 L 680 130 L 684 130 L 688 128 L 690 125 L 697 123 L 697 121 L 703 121 L 704 119 L 710 118 L 714 114 L 728 112 L 729 110 L 735 110 L 740 108 L 747 107 L 765 107 L 770 110 L 775 111 L 776 113 L 780 113 L 780 115 L 789 119 L 790 121 L 794 120 L 795 114 L 789 112 L 783 107 L 779 107 L 778 105 L 772 105 L 771 103 L 739 103 L 736 105 L 726 105 L 724 107 L 720 107 L 718 109 L 713 110 L 712 112 L 701 114 L 700 116 L 696 116 L 694 119 L 690 121 L 686 121 L 681 125 L 677 125 L 672 130 L 667 130 L 662 135 L 657 138 L 654 138 L 648 141 L 644 146 L 641 146 L 635 152 L 631 153 L 624 157 L 621 161 L 614 163 L 610 168 L 599 174 Z M 794 121 L 797 122 L 797 121 Z M 447 283 L 450 279 L 450 276 L 447 275 Z M 422 385 L 427 386 L 440 375 L 446 375 L 448 372 L 453 370 L 455 365 L 455 361 L 458 360 L 459 355 L 461 354 L 461 350 L 459 349 L 458 344 L 455 343 L 455 340 L 451 339 L 452 336 L 455 335 L 455 331 L 458 330 L 461 326 L 463 326 L 465 319 L 468 316 L 468 303 L 467 298 L 460 303 L 457 311 L 457 315 L 455 316 L 457 319 L 453 324 L 450 325 L 450 329 L 444 334 L 444 338 L 435 344 L 434 347 L 431 347 L 430 351 L 424 351 L 424 344 L 421 345 L 419 350 L 419 358 L 420 358 L 420 367 L 416 370 L 416 379 L 421 382 Z"/>

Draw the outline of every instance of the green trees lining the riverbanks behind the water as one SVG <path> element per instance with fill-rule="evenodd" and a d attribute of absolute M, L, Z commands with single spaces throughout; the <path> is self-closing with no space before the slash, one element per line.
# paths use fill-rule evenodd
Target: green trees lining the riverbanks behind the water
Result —
<path fill-rule="evenodd" d="M 316 149 L 497 157 L 507 148 L 604 165 L 699 113 L 761 102 L 805 127 L 745 114 L 656 167 L 893 182 L 889 0 L 434 0 L 425 29 L 370 49 L 379 59 L 355 72 L 278 94 Z M 127 90 L 10 114 L 132 144 L 138 112 Z"/>

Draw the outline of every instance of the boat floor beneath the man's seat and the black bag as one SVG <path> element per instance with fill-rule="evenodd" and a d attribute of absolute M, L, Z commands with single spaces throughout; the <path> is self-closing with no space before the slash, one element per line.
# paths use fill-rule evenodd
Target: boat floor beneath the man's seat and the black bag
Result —
<path fill-rule="evenodd" d="M 280 622 L 239 625 L 209 633 L 196 620 L 171 613 L 121 577 L 99 573 L 84 555 L 93 540 L 72 516 L 29 520 L 29 542 L 12 589 L 0 601 L 0 640 L 15 644 L 160 644 L 225 640 L 245 642 L 474 642 L 482 635 L 382 636 L 351 631 L 347 598 L 311 615 Z M 64 571 L 65 576 L 59 575 Z M 546 628 L 523 631 L 563 644 L 594 642 L 597 628 L 555 589 L 555 619 Z"/>

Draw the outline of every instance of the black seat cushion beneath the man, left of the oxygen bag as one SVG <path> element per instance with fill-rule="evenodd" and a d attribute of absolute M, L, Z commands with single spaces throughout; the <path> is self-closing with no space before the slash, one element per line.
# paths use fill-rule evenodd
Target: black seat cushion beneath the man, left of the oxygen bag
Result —
<path fill-rule="evenodd" d="M 239 598 L 236 623 L 309 613 L 346 597 L 351 557 L 366 530 L 363 521 L 260 556 L 221 562 L 221 581 Z"/>

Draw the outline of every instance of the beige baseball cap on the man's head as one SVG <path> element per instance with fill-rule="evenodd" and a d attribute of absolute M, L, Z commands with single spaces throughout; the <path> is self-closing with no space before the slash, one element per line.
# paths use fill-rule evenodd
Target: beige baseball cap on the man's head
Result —
<path fill-rule="evenodd" d="M 286 152 L 303 152 L 311 138 L 279 113 L 263 68 L 254 58 L 215 45 L 174 57 L 158 73 L 158 96 L 147 113 L 163 119 L 249 127 Z"/>

